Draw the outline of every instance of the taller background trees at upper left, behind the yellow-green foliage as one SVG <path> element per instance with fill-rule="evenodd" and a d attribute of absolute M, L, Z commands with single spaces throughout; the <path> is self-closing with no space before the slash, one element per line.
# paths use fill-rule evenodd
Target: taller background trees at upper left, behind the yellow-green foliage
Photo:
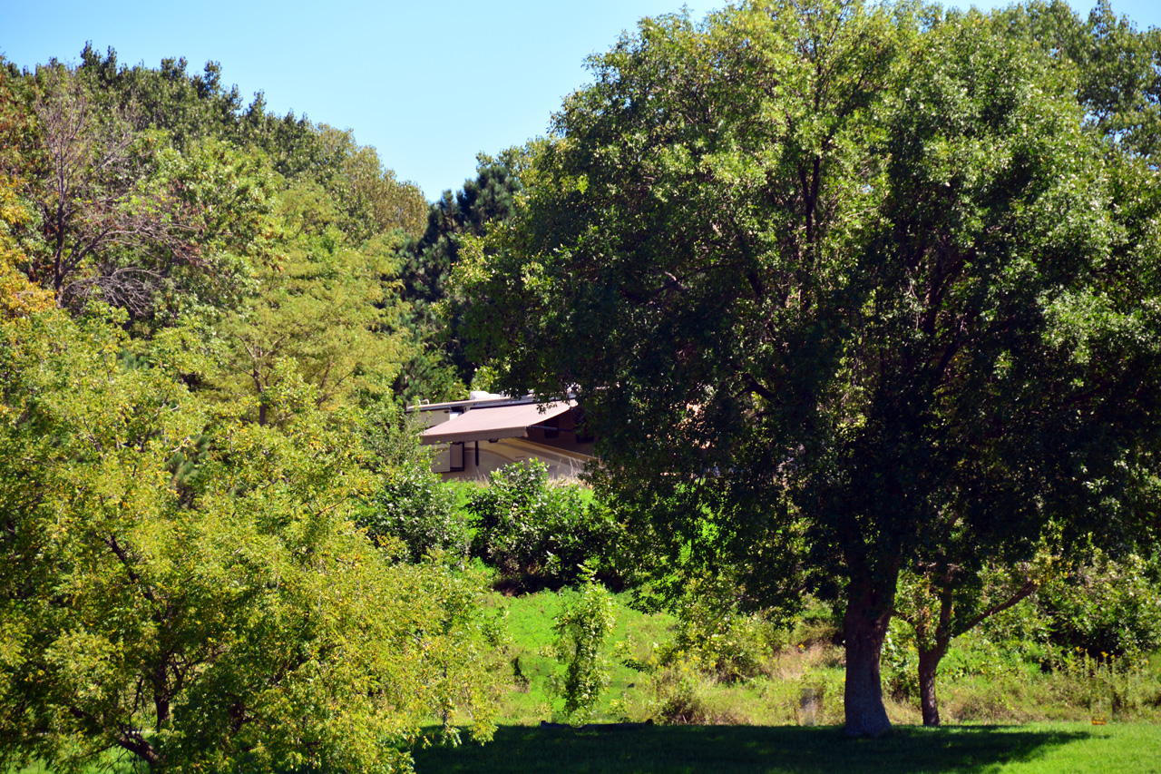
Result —
<path fill-rule="evenodd" d="M 151 336 L 189 317 L 251 317 L 247 301 L 284 289 L 281 270 L 301 270 L 319 251 L 347 253 L 339 261 L 349 270 L 359 252 L 377 294 L 334 294 L 325 272 L 290 293 L 377 304 L 372 327 L 394 324 L 394 253 L 421 231 L 427 205 L 373 148 L 349 130 L 271 116 L 261 94 L 244 109 L 216 63 L 190 76 L 185 59 L 128 67 L 111 49 L 102 57 L 89 46 L 81 59 L 5 74 L 3 169 L 37 215 L 16 229 L 15 263 L 30 281 L 74 313 L 91 299 L 123 308 Z M 408 357 L 383 358 L 389 379 Z"/>

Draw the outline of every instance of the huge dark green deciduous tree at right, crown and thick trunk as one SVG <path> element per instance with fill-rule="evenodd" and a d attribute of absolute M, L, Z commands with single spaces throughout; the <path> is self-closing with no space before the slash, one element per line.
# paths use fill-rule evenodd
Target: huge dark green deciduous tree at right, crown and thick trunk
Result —
<path fill-rule="evenodd" d="M 974 12 L 779 0 L 591 67 L 459 271 L 473 354 L 578 394 L 671 567 L 842 594 L 849 733 L 889 728 L 904 567 L 1156 538 L 1156 181 L 1067 63 Z"/>

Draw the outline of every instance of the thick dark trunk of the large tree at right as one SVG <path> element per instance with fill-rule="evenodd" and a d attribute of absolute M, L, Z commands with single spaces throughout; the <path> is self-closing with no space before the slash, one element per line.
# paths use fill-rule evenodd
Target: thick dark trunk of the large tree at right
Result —
<path fill-rule="evenodd" d="M 882 704 L 879 657 L 890 623 L 892 593 L 877 590 L 870 581 L 851 581 L 843 635 L 846 639 L 846 686 L 843 691 L 846 734 L 877 737 L 890 730 Z"/>

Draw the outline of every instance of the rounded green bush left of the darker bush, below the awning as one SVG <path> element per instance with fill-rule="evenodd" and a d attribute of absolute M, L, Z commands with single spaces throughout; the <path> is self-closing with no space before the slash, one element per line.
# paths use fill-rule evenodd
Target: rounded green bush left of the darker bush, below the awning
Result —
<path fill-rule="evenodd" d="M 455 493 L 420 465 L 389 471 L 359 521 L 372 537 L 398 539 L 410 561 L 444 552 L 462 562 L 468 554 L 468 523 L 455 508 Z"/>

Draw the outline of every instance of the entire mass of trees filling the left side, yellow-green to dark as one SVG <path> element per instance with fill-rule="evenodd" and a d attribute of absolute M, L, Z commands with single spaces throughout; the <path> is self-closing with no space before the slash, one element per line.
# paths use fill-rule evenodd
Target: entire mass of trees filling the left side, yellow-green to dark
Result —
<path fill-rule="evenodd" d="M 0 766 L 486 738 L 478 580 L 355 526 L 424 465 L 391 389 L 418 188 L 212 63 L 6 65 L 0 135 Z"/>

